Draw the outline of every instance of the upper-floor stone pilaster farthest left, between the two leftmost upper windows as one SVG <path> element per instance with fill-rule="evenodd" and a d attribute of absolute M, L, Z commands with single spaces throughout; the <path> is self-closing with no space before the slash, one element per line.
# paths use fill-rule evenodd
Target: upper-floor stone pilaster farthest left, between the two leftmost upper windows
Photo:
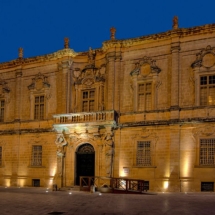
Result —
<path fill-rule="evenodd" d="M 15 120 L 19 120 L 21 118 L 21 89 L 22 89 L 22 70 L 16 70 L 16 91 L 15 91 Z"/>

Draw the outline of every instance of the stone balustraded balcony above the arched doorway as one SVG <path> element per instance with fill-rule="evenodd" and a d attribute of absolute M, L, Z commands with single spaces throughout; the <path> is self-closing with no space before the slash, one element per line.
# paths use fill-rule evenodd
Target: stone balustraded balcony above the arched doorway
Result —
<path fill-rule="evenodd" d="M 80 112 L 53 115 L 54 124 L 112 124 L 117 122 L 117 114 L 114 110 L 97 112 Z"/>

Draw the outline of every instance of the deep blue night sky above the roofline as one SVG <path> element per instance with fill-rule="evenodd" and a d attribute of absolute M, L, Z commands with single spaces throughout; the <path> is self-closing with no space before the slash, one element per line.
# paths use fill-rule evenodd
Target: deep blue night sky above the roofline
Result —
<path fill-rule="evenodd" d="M 60 50 L 64 37 L 76 52 L 109 40 L 134 38 L 179 27 L 215 23 L 215 0 L 0 0 L 0 62 Z"/>

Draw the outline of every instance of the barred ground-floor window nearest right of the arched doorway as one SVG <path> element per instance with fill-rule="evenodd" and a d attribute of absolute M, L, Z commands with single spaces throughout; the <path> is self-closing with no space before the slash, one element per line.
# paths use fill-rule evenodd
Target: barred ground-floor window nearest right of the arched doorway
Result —
<path fill-rule="evenodd" d="M 137 141 L 137 166 L 151 166 L 151 142 Z"/>

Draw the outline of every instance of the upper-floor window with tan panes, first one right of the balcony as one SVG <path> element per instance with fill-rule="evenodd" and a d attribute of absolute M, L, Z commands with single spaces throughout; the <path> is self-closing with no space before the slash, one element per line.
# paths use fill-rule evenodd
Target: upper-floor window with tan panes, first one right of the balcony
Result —
<path fill-rule="evenodd" d="M 143 83 L 138 85 L 138 110 L 152 109 L 152 84 Z"/>

